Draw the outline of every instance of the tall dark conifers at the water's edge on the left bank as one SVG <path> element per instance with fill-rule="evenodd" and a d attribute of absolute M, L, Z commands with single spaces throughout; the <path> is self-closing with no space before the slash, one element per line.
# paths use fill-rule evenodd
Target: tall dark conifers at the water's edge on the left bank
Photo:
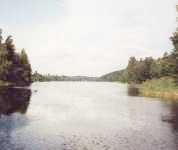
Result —
<path fill-rule="evenodd" d="M 12 36 L 3 40 L 0 29 L 0 85 L 28 86 L 31 82 L 31 65 L 25 50 L 17 53 Z"/>

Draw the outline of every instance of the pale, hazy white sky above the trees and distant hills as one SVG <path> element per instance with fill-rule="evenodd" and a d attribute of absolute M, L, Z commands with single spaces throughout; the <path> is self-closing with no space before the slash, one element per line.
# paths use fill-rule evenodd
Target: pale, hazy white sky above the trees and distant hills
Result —
<path fill-rule="evenodd" d="M 0 28 L 33 71 L 100 76 L 173 49 L 178 0 L 0 0 Z"/>

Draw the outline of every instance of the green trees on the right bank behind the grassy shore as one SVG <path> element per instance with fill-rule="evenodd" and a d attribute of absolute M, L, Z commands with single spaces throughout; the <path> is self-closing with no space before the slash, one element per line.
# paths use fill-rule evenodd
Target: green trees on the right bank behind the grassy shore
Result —
<path fill-rule="evenodd" d="M 127 81 L 129 83 L 142 83 L 148 79 L 172 77 L 177 79 L 178 75 L 178 33 L 175 32 L 170 38 L 174 49 L 170 53 L 165 53 L 162 58 L 136 60 L 135 57 L 129 59 L 127 66 Z"/>

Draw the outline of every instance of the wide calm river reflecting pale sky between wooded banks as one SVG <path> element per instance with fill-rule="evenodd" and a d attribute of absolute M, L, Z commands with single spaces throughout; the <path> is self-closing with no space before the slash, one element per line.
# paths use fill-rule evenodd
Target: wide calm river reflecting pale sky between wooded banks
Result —
<path fill-rule="evenodd" d="M 126 84 L 0 89 L 0 150 L 177 150 L 177 120 L 177 104 L 136 96 Z"/>

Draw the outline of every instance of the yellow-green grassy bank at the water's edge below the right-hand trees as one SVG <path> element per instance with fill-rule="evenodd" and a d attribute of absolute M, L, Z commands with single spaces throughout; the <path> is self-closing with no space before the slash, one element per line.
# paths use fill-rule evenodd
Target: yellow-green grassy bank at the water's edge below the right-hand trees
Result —
<path fill-rule="evenodd" d="M 175 84 L 175 80 L 170 77 L 147 80 L 139 86 L 139 94 L 146 97 L 178 101 L 178 86 Z"/>

